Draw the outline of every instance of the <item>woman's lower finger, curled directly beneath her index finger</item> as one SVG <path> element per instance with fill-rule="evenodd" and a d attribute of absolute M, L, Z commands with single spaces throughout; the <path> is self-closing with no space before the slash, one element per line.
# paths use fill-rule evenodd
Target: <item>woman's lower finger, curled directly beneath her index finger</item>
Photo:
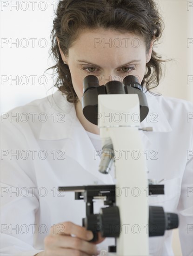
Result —
<path fill-rule="evenodd" d="M 47 242 L 49 246 L 53 246 L 54 248 L 60 247 L 62 249 L 77 249 L 89 255 L 97 255 L 98 253 L 95 244 L 89 243 L 78 237 L 57 234 L 55 236 L 51 236 L 50 240 Z"/>

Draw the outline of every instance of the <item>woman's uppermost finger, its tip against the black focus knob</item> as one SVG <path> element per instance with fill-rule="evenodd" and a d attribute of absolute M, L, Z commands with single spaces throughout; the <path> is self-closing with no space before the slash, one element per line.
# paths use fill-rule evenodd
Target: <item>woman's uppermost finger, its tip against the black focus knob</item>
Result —
<path fill-rule="evenodd" d="M 75 235 L 83 240 L 93 239 L 93 232 L 87 230 L 85 227 L 74 224 L 73 222 L 61 222 L 55 224 L 50 229 L 50 235 L 64 234 L 64 235 Z"/>

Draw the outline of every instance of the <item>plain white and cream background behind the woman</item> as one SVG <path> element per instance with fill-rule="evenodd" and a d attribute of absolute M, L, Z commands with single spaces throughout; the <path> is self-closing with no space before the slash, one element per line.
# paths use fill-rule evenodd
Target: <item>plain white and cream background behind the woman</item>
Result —
<path fill-rule="evenodd" d="M 174 59 L 166 63 L 166 76 L 156 92 L 192 101 L 193 1 L 155 2 L 165 22 L 165 31 L 154 49 L 164 59 Z M 54 75 L 44 72 L 53 66 L 48 51 L 57 3 L 58 0 L 0 1 L 1 113 L 46 97 L 56 90 L 53 88 Z M 173 247 L 175 255 L 180 256 L 178 230 L 174 231 Z"/>

